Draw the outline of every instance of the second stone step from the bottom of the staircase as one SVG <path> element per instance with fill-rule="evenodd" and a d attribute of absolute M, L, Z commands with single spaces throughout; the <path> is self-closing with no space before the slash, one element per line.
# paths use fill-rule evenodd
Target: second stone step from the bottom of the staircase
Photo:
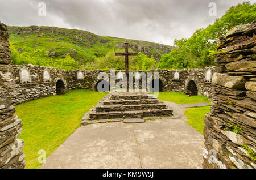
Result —
<path fill-rule="evenodd" d="M 98 105 L 96 112 L 112 112 L 112 111 L 127 111 L 127 110 L 144 110 L 144 109 L 166 109 L 163 103 L 158 104 L 114 104 L 114 105 Z"/>

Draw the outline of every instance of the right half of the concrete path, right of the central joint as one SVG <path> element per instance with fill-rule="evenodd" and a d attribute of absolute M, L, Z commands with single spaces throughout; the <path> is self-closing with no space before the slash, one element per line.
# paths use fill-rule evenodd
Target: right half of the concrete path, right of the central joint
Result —
<path fill-rule="evenodd" d="M 204 138 L 198 131 L 168 117 L 143 125 L 134 125 L 142 168 L 202 168 Z"/>

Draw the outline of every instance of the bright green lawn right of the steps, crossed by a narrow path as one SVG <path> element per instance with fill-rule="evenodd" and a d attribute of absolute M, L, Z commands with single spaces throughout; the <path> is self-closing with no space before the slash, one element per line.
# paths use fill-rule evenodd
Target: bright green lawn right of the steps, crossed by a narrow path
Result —
<path fill-rule="evenodd" d="M 210 104 L 209 98 L 204 96 L 188 96 L 183 92 L 160 92 L 158 98 L 162 101 L 171 101 L 177 104 L 192 104 L 199 102 L 207 102 Z M 189 119 L 185 121 L 188 125 L 195 128 L 201 134 L 204 134 L 204 117 L 210 111 L 210 106 L 188 108 L 184 115 Z"/>

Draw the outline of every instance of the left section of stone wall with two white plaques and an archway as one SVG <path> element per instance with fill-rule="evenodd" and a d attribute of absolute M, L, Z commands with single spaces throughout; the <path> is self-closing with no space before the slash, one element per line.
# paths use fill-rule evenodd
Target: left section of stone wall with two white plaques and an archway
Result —
<path fill-rule="evenodd" d="M 30 82 L 21 82 L 21 70 L 26 68 L 30 72 Z M 61 80 L 65 84 L 67 91 L 66 72 L 60 68 L 24 65 L 13 65 L 15 77 L 15 94 L 11 98 L 12 104 L 20 104 L 22 102 L 35 100 L 38 98 L 56 95 L 56 83 Z M 44 74 L 48 71 L 49 75 Z M 47 79 L 44 77 L 47 76 Z"/>

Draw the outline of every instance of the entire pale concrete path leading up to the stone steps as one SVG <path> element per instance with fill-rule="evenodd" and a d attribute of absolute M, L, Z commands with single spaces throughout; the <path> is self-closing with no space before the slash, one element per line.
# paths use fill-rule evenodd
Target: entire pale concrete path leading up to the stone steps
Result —
<path fill-rule="evenodd" d="M 79 127 L 41 168 L 202 168 L 204 138 L 182 119 Z"/>

